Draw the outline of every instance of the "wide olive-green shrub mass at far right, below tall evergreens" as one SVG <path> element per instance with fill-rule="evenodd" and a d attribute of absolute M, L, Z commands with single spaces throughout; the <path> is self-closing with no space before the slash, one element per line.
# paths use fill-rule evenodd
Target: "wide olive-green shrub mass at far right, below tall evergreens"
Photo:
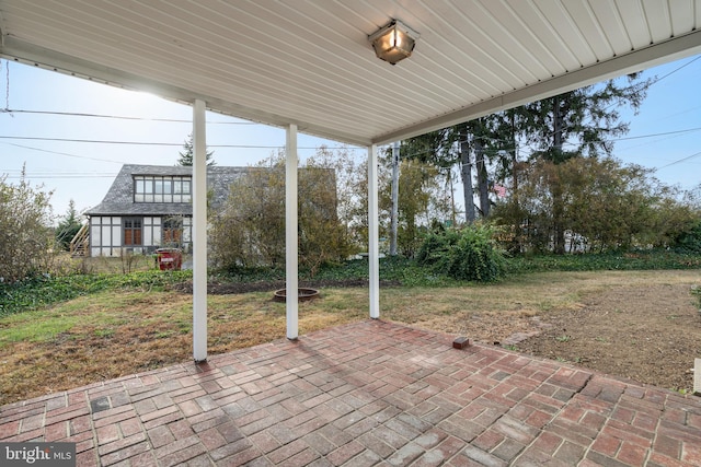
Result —
<path fill-rule="evenodd" d="M 518 191 L 499 201 L 491 218 L 510 227 L 514 253 L 666 247 L 699 219 L 690 195 L 680 200 L 650 171 L 611 157 L 537 161 L 518 174 Z M 567 238 L 567 232 L 574 235 Z"/>

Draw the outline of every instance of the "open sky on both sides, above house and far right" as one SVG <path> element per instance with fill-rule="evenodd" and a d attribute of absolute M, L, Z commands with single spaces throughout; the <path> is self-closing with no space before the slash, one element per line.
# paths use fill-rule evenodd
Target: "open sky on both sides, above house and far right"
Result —
<path fill-rule="evenodd" d="M 658 81 L 637 115 L 621 109 L 630 131 L 616 141 L 613 155 L 655 170 L 667 185 L 698 187 L 701 56 L 643 75 Z M 206 131 L 217 165 L 255 164 L 285 145 L 280 128 L 211 112 Z M 187 105 L 0 59 L 0 177 L 16 184 L 24 168 L 33 187 L 53 191 L 58 218 L 70 200 L 79 213 L 99 205 L 123 164 L 175 165 L 191 132 Z M 301 133 L 298 143 L 301 160 L 321 144 L 341 145 Z"/>

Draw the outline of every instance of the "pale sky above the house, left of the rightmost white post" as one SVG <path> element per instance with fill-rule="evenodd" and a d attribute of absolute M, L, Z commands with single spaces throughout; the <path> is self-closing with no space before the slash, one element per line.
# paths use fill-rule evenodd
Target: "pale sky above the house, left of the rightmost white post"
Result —
<path fill-rule="evenodd" d="M 79 213 L 97 206 L 123 164 L 176 165 L 192 119 L 185 104 L 0 60 L 0 177 L 18 184 L 24 168 L 33 187 L 53 191 L 58 218 L 70 200 Z M 252 165 L 285 148 L 281 128 L 211 112 L 206 119 L 217 165 Z M 342 145 L 299 133 L 299 159 L 322 144 Z M 367 155 L 365 148 L 346 148 Z"/>

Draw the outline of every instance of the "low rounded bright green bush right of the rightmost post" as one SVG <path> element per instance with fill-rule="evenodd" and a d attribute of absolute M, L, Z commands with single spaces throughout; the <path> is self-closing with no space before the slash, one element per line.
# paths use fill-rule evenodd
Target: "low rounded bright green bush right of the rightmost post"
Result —
<path fill-rule="evenodd" d="M 476 224 L 428 234 L 417 257 L 420 265 L 457 280 L 491 282 L 504 273 L 504 254 L 496 247 L 494 230 Z"/>

